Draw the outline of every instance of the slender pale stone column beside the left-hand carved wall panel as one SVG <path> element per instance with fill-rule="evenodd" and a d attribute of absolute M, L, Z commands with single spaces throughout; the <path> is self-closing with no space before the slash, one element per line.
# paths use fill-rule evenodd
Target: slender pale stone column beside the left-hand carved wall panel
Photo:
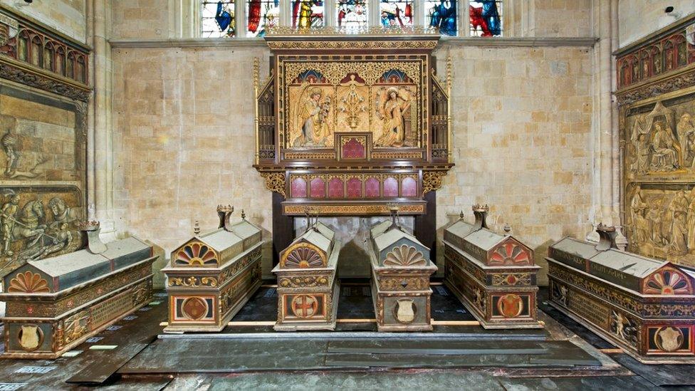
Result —
<path fill-rule="evenodd" d="M 111 130 L 110 0 L 90 0 L 94 95 L 88 140 L 88 202 L 95 205 L 101 236 L 115 239 L 113 221 L 113 132 Z"/>

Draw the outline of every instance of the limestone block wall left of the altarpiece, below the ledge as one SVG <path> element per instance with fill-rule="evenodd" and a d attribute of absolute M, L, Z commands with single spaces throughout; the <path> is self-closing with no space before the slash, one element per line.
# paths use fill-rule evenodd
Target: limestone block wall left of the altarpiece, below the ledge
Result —
<path fill-rule="evenodd" d="M 254 163 L 253 58 L 265 48 L 114 49 L 114 214 L 119 234 L 169 254 L 217 226 L 217 204 L 263 227 L 271 192 Z M 267 64 L 266 64 L 267 68 Z M 269 272 L 271 254 L 264 256 Z"/>

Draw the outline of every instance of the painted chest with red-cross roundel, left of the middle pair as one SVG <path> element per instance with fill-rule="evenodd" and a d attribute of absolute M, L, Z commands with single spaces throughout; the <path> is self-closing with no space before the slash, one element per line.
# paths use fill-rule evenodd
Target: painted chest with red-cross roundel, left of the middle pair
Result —
<path fill-rule="evenodd" d="M 280 254 L 276 330 L 334 330 L 340 283 L 335 276 L 340 241 L 315 221 Z"/>

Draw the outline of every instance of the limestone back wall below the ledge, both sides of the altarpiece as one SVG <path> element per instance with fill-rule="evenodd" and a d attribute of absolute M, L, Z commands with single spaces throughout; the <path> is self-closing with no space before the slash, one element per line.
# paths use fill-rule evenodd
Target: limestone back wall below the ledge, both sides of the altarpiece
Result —
<path fill-rule="evenodd" d="M 439 231 L 475 202 L 491 204 L 536 250 L 590 227 L 589 48 L 443 46 L 454 59 L 454 161 L 437 195 Z M 116 48 L 117 230 L 169 252 L 195 219 L 216 226 L 233 203 L 271 235 L 271 193 L 251 168 L 251 69 L 263 47 Z M 441 232 L 440 232 L 441 234 Z M 439 251 L 439 254 L 442 254 Z M 264 254 L 266 275 L 270 250 Z"/>

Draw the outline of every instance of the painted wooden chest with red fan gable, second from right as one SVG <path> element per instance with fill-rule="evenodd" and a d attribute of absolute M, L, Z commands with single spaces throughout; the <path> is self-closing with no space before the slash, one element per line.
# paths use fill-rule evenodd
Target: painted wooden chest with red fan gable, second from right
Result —
<path fill-rule="evenodd" d="M 476 221 L 461 219 L 444 230 L 444 283 L 484 328 L 542 328 L 536 311 L 533 250 L 487 228 L 487 206 L 473 207 Z"/>

